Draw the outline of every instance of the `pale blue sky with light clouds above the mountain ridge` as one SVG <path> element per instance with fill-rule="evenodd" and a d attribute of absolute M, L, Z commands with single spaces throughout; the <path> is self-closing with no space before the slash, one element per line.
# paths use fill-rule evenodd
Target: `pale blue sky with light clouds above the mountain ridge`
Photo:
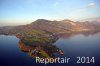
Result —
<path fill-rule="evenodd" d="M 0 26 L 100 17 L 100 0 L 0 0 Z"/>

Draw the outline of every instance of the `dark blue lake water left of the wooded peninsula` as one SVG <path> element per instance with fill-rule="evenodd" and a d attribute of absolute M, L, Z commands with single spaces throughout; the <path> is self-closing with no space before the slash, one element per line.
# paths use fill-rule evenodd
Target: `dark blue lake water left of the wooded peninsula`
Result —
<path fill-rule="evenodd" d="M 34 61 L 18 47 L 15 36 L 0 35 L 0 66 L 32 66 Z"/>

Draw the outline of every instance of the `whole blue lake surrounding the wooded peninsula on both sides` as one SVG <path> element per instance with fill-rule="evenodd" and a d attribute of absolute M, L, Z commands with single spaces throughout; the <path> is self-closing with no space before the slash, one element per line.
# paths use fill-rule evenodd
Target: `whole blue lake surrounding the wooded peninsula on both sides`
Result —
<path fill-rule="evenodd" d="M 30 57 L 18 47 L 19 39 L 16 36 L 0 35 L 0 66 L 45 66 L 36 64 Z M 64 55 L 55 54 L 57 57 L 69 57 L 66 64 L 47 64 L 47 66 L 100 66 L 100 32 L 80 32 L 59 35 L 54 43 L 63 50 Z M 94 63 L 76 63 L 77 57 L 94 57 Z M 84 61 L 84 60 L 83 60 Z"/>

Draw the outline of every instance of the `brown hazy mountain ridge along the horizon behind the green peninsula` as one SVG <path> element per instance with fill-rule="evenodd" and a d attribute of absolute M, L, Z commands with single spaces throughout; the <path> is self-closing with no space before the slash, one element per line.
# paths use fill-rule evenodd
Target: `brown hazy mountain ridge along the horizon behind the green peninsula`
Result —
<path fill-rule="evenodd" d="M 31 24 L 20 26 L 6 26 L 0 27 L 0 33 L 2 34 L 17 34 L 26 31 L 39 31 L 45 33 L 70 33 L 73 31 L 91 31 L 100 30 L 100 25 L 96 25 L 94 22 L 74 22 L 71 20 L 62 21 L 50 21 L 45 19 L 38 19 Z"/>

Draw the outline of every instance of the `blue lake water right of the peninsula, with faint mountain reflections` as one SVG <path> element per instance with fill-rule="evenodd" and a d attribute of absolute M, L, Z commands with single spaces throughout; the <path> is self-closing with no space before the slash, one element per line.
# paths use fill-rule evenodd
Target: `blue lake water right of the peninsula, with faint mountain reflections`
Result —
<path fill-rule="evenodd" d="M 69 37 L 63 35 L 55 45 L 64 51 L 64 55 L 59 57 L 71 58 L 69 66 L 100 66 L 100 32 L 72 34 Z M 95 63 L 77 64 L 78 56 L 94 57 Z"/>

